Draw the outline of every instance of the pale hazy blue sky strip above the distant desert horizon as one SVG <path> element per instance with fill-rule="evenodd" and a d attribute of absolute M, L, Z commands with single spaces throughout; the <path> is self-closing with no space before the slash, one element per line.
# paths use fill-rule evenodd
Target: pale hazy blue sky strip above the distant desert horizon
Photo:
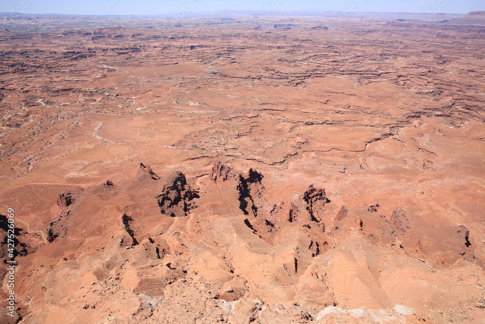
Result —
<path fill-rule="evenodd" d="M 377 11 L 468 13 L 484 0 L 0 0 L 0 12 L 157 15 L 183 11 Z"/>

